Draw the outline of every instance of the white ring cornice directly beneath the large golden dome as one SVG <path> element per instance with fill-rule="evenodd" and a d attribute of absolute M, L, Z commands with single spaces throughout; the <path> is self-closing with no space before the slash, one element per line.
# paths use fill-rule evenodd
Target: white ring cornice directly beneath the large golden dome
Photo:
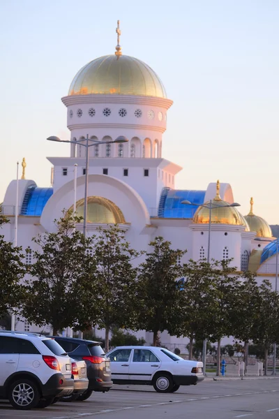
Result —
<path fill-rule="evenodd" d="M 65 106 L 78 105 L 80 103 L 129 103 L 134 105 L 153 105 L 160 108 L 169 109 L 173 101 L 165 98 L 155 98 L 152 96 L 126 96 L 110 94 L 77 94 L 73 96 L 63 96 L 61 101 Z"/>

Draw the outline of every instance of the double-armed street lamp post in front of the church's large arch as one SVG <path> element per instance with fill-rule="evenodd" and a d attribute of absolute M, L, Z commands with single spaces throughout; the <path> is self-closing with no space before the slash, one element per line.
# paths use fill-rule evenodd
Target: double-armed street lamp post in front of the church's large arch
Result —
<path fill-rule="evenodd" d="M 70 142 L 75 145 L 82 145 L 82 147 L 86 147 L 86 158 L 85 158 L 85 186 L 84 186 L 84 220 L 83 220 L 83 234 L 86 236 L 86 221 L 87 221 L 87 193 L 88 193 L 88 172 L 89 172 L 89 147 L 92 147 L 93 145 L 99 145 L 99 144 L 119 144 L 121 142 L 128 142 L 128 139 L 124 137 L 123 135 L 119 135 L 119 137 L 116 138 L 116 140 L 112 141 L 98 141 L 98 140 L 92 140 L 92 138 L 89 138 L 89 135 L 86 135 L 86 142 L 83 144 L 84 139 L 72 141 L 72 140 L 61 140 L 58 137 L 52 136 L 48 137 L 47 140 L 49 141 L 56 141 L 56 142 Z"/>

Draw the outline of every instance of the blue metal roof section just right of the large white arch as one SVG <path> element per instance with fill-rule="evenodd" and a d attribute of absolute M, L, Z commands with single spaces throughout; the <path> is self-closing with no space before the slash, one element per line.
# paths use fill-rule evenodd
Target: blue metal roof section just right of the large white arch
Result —
<path fill-rule="evenodd" d="M 158 209 L 160 218 L 179 218 L 192 219 L 197 211 L 197 205 L 204 203 L 206 191 L 187 191 L 184 189 L 176 190 L 164 188 Z M 197 205 L 181 204 L 183 200 Z"/>

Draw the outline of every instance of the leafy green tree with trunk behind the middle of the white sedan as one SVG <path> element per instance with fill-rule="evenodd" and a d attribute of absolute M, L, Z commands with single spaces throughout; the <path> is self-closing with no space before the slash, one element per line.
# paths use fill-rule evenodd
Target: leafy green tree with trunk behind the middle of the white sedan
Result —
<path fill-rule="evenodd" d="M 140 316 L 137 327 L 153 332 L 153 346 L 158 332 L 167 330 L 170 335 L 181 335 L 181 289 L 183 266 L 180 263 L 186 251 L 171 249 L 171 243 L 156 237 L 149 243 L 152 251 L 140 265 L 137 297 Z"/>

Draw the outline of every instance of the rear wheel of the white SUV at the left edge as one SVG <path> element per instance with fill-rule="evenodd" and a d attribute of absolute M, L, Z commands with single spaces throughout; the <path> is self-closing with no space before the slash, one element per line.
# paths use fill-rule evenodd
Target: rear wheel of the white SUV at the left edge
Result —
<path fill-rule="evenodd" d="M 40 401 L 38 387 L 36 383 L 26 378 L 14 381 L 8 390 L 8 399 L 15 409 L 32 409 Z"/>

